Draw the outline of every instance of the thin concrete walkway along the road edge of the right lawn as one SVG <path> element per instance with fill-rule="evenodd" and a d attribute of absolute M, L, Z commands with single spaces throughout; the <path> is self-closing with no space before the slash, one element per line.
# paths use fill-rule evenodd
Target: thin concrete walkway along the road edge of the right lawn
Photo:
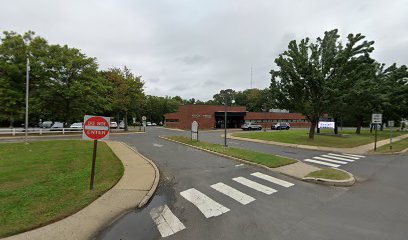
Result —
<path fill-rule="evenodd" d="M 227 134 L 227 137 L 230 139 L 241 140 L 241 141 L 249 141 L 249 142 L 257 142 L 257 143 L 264 143 L 264 144 L 271 144 L 271 145 L 279 145 L 285 147 L 294 147 L 294 148 L 302 148 L 302 149 L 311 149 L 311 150 L 320 150 L 320 151 L 328 151 L 328 152 L 340 152 L 340 153 L 355 153 L 355 154 L 366 154 L 369 151 L 374 149 L 374 143 L 369 143 L 353 148 L 336 148 L 336 147 L 319 147 L 319 146 L 311 146 L 311 145 L 302 145 L 302 144 L 292 144 L 292 143 L 282 143 L 282 142 L 273 142 L 273 141 L 266 141 L 266 140 L 259 140 L 259 139 L 250 139 L 250 138 L 241 138 L 241 137 L 234 137 L 231 134 Z M 408 134 L 404 134 L 398 137 L 393 138 L 393 142 L 397 142 L 401 139 L 408 138 Z M 377 147 L 381 147 L 390 143 L 389 139 L 381 140 L 377 142 Z"/>

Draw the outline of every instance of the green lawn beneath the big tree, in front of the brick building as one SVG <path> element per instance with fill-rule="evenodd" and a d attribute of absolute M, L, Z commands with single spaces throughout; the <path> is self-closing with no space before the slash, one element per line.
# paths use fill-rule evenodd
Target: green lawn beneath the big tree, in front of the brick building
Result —
<path fill-rule="evenodd" d="M 321 133 L 328 134 L 332 133 L 332 131 L 324 130 Z M 369 130 L 362 130 L 360 135 L 355 134 L 354 130 L 345 130 L 340 131 L 339 133 L 341 133 L 342 135 L 315 135 L 314 140 L 309 140 L 308 130 L 296 129 L 291 129 L 289 131 L 282 130 L 271 132 L 234 133 L 232 134 L 232 136 L 282 143 L 340 148 L 357 147 L 374 142 L 374 131 L 373 133 L 370 133 Z M 389 137 L 388 130 L 378 131 L 377 134 L 378 140 L 387 139 Z M 394 136 L 399 136 L 404 134 L 404 132 L 394 132 L 393 134 Z"/>

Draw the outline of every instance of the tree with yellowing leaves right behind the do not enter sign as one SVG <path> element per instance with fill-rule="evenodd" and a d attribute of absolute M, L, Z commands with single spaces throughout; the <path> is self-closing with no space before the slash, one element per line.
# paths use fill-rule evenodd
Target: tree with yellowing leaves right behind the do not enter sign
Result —
<path fill-rule="evenodd" d="M 140 112 L 144 99 L 144 82 L 126 66 L 123 69 L 111 68 L 103 72 L 103 75 L 111 86 L 108 94 L 110 108 L 117 114 L 124 114 L 125 131 L 128 131 L 128 114 L 136 116 Z"/>

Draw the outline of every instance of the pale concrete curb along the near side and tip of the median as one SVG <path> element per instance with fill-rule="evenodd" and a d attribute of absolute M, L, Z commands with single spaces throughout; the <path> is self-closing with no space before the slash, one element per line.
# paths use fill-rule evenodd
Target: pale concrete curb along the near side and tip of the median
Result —
<path fill-rule="evenodd" d="M 204 152 L 208 152 L 208 153 L 220 156 L 220 157 L 225 157 L 225 158 L 229 158 L 229 159 L 232 159 L 232 160 L 237 160 L 237 161 L 240 161 L 240 162 L 244 162 L 244 163 L 247 163 L 247 164 L 250 164 L 250 165 L 262 167 L 262 168 L 268 169 L 270 171 L 277 172 L 277 173 L 283 174 L 285 176 L 288 176 L 288 177 L 291 177 L 291 178 L 294 178 L 294 179 L 297 179 L 297 180 L 305 181 L 305 182 L 313 182 L 313 183 L 316 183 L 316 184 L 323 184 L 323 185 L 329 185 L 329 186 L 343 186 L 343 187 L 351 186 L 351 185 L 353 185 L 355 183 L 355 178 L 351 173 L 349 173 L 347 171 L 344 171 L 344 170 L 341 170 L 341 169 L 337 169 L 337 168 L 336 168 L 337 170 L 347 173 L 350 176 L 350 178 L 347 179 L 347 180 L 331 180 L 331 179 L 323 179 L 323 178 L 304 178 L 304 177 L 300 178 L 300 177 L 291 175 L 289 173 L 285 173 L 285 172 L 280 171 L 280 167 L 270 168 L 270 167 L 267 167 L 267 166 L 262 165 L 262 164 L 250 162 L 250 161 L 247 161 L 247 160 L 244 160 L 244 159 L 241 159 L 241 158 L 236 158 L 236 157 L 232 157 L 232 156 L 225 155 L 225 154 L 222 154 L 222 153 L 214 152 L 214 151 L 211 151 L 211 150 L 208 150 L 208 149 L 196 147 L 196 146 L 193 146 L 193 145 L 190 145 L 190 144 L 187 144 L 187 143 L 183 143 L 183 142 L 179 142 L 179 141 L 176 141 L 176 140 L 173 140 L 173 139 L 170 139 L 170 138 L 166 138 L 166 137 L 163 137 L 163 136 L 159 136 L 159 138 L 167 140 L 167 141 L 175 142 L 175 143 L 178 143 L 178 144 L 182 144 L 182 145 L 185 145 L 185 146 L 188 146 L 188 147 L 191 147 L 191 148 L 194 148 L 194 149 L 198 149 L 198 150 L 201 150 L 201 151 L 204 151 Z M 276 156 L 278 156 L 278 155 L 276 155 Z M 297 159 L 293 159 L 293 160 L 295 160 L 297 162 L 301 162 L 301 161 L 299 161 Z M 291 164 L 288 164 L 288 165 L 291 165 Z M 288 165 L 284 165 L 284 166 L 281 166 L 281 167 L 285 167 L 285 166 L 288 166 Z"/>

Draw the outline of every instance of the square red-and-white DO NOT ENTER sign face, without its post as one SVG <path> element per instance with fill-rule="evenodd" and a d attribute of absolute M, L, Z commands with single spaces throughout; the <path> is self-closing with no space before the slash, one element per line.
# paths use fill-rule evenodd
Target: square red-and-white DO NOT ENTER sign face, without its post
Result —
<path fill-rule="evenodd" d="M 103 140 L 109 138 L 109 117 L 84 117 L 83 139 Z"/>

